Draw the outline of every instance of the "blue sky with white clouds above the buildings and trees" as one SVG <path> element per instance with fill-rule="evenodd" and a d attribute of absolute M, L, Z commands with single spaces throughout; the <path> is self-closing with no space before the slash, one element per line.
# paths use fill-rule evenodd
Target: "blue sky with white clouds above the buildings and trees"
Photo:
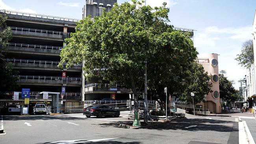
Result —
<path fill-rule="evenodd" d="M 117 0 L 119 4 L 129 1 Z M 252 39 L 256 0 L 147 0 L 150 6 L 163 2 L 170 8 L 170 24 L 197 30 L 197 51 L 219 54 L 219 70 L 226 70 L 238 89 L 237 81 L 246 70 L 234 59 L 243 42 Z M 85 0 L 0 0 L 0 9 L 81 19 L 84 4 Z"/>

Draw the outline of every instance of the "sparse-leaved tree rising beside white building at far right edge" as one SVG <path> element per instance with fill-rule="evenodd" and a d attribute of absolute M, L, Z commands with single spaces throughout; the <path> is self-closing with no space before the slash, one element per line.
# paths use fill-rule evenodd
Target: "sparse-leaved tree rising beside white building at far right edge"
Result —
<path fill-rule="evenodd" d="M 254 56 L 252 39 L 243 43 L 241 54 L 237 55 L 236 60 L 239 61 L 239 65 L 244 66 L 245 68 L 250 68 L 250 66 L 253 65 Z"/>

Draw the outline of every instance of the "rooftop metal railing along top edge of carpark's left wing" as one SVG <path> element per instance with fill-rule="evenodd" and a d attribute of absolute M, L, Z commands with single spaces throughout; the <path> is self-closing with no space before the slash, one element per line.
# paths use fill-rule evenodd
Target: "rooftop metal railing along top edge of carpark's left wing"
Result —
<path fill-rule="evenodd" d="M 5 9 L 1 9 L 0 12 L 12 14 L 12 15 L 22 15 L 22 16 L 37 17 L 37 18 L 48 18 L 48 19 L 53 19 L 53 20 L 64 20 L 64 21 L 70 21 L 70 22 L 79 21 L 79 19 L 75 19 L 75 18 L 65 18 L 65 17 L 55 17 L 55 16 L 49 16 L 49 15 L 39 15 L 39 14 L 33 14 L 33 13 L 23 13 L 23 12 L 18 12 L 18 11 L 8 11 Z"/>

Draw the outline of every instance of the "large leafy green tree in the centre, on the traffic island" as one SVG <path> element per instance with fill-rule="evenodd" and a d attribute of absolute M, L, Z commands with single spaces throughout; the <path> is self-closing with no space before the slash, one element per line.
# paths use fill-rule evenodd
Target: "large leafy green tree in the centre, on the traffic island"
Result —
<path fill-rule="evenodd" d="M 76 32 L 61 50 L 59 66 L 67 63 L 68 68 L 83 60 L 87 80 L 96 76 L 132 88 L 136 114 L 144 85 L 145 62 L 149 87 L 158 84 L 167 87 L 169 83 L 169 90 L 178 89 L 182 87 L 179 85 L 182 78 L 189 76 L 186 72 L 192 68 L 198 53 L 187 34 L 174 31 L 167 24 L 166 3 L 152 8 L 136 0 L 132 2 L 115 4 L 100 17 L 86 17 L 77 22 Z"/>

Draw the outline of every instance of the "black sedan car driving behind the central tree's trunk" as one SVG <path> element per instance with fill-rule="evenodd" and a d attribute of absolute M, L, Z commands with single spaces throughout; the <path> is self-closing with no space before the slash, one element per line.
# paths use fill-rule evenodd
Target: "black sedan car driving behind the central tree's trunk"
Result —
<path fill-rule="evenodd" d="M 83 115 L 85 115 L 87 118 L 91 116 L 97 116 L 97 118 L 101 118 L 102 116 L 119 117 L 120 111 L 113 109 L 108 105 L 90 105 L 83 109 Z"/>

